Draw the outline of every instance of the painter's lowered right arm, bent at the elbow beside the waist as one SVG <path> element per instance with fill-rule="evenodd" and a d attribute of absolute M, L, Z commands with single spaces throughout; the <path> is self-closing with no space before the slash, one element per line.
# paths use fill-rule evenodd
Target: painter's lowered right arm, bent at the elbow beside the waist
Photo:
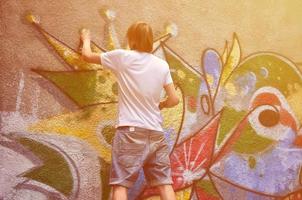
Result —
<path fill-rule="evenodd" d="M 159 104 L 159 109 L 163 109 L 163 108 L 171 108 L 176 106 L 179 103 L 179 99 L 178 96 L 176 94 L 176 90 L 174 87 L 173 83 L 167 84 L 164 86 L 164 89 L 166 91 L 167 94 L 167 98 L 160 102 Z"/>

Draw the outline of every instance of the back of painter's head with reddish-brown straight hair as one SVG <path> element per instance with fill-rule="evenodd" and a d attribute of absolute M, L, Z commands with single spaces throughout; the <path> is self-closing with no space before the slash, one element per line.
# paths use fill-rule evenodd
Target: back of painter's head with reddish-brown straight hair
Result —
<path fill-rule="evenodd" d="M 152 28 L 145 22 L 132 24 L 127 31 L 130 49 L 151 53 L 153 50 Z"/>

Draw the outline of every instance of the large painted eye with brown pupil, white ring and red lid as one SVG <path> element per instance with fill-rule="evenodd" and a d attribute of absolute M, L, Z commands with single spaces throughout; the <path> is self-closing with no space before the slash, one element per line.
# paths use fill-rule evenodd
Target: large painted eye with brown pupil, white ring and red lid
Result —
<path fill-rule="evenodd" d="M 297 130 L 297 120 L 284 95 L 272 87 L 257 90 L 251 100 L 249 122 L 256 133 L 275 141 Z"/>

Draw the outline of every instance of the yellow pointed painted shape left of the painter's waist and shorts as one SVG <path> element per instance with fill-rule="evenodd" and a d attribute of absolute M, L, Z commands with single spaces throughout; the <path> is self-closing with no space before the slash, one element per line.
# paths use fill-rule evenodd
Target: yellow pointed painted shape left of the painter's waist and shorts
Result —
<path fill-rule="evenodd" d="M 86 112 L 90 112 L 91 115 L 87 119 L 81 119 Z M 94 147 L 99 156 L 110 163 L 111 149 L 101 144 L 97 137 L 96 127 L 104 120 L 115 119 L 116 113 L 115 104 L 88 107 L 78 112 L 60 114 L 41 120 L 29 126 L 28 131 L 78 137 Z"/>

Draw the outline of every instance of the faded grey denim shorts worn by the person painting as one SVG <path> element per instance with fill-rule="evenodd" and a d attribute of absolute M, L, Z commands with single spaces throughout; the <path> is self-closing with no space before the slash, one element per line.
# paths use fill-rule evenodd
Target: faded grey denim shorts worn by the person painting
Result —
<path fill-rule="evenodd" d="M 118 127 L 112 143 L 109 184 L 132 187 L 142 168 L 148 186 L 173 184 L 164 133 L 132 126 Z"/>

